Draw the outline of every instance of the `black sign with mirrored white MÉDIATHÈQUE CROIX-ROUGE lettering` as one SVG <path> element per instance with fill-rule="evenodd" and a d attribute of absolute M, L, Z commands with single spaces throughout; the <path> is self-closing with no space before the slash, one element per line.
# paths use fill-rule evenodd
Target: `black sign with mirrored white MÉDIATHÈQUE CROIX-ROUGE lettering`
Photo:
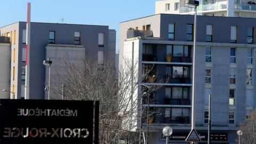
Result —
<path fill-rule="evenodd" d="M 0 143 L 98 143 L 99 102 L 0 100 Z"/>

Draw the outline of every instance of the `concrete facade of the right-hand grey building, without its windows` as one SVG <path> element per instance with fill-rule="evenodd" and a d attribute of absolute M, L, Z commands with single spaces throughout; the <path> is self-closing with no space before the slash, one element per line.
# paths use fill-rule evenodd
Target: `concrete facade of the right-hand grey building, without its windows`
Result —
<path fill-rule="evenodd" d="M 174 41 L 168 38 L 169 24 L 175 25 Z M 187 24 L 194 23 L 193 15 L 175 15 L 175 14 L 156 14 L 149 17 L 125 21 L 120 23 L 120 53 L 119 66 L 123 65 L 122 59 L 124 55 L 138 53 L 138 58 L 134 55 L 134 61 L 138 61 L 139 73 L 142 73 L 143 65 L 155 65 L 157 69 L 157 79 L 150 83 L 145 79 L 142 84 L 145 85 L 161 85 L 161 89 L 154 94 L 154 102 L 151 101 L 150 108 L 157 109 L 154 114 L 154 120 L 149 124 L 149 132 L 151 137 L 149 143 L 165 143 L 161 138 L 161 132 L 164 126 L 171 126 L 173 134 L 176 138 L 171 138 L 171 143 L 186 143 L 182 137 L 187 137 L 191 129 L 191 86 L 193 71 L 193 41 L 187 41 Z M 197 18 L 197 49 L 196 49 L 196 130 L 202 136 L 202 143 L 207 142 L 207 124 L 205 124 L 205 111 L 208 110 L 209 100 L 208 94 L 212 94 L 212 133 L 216 139 L 212 143 L 235 143 L 237 138 L 236 130 L 241 122 L 244 122 L 248 112 L 255 108 L 256 92 L 255 92 L 255 19 L 253 18 L 230 18 L 230 17 L 206 17 L 199 16 Z M 127 29 L 138 27 L 138 31 L 143 26 L 150 25 L 152 31 L 151 36 L 137 36 L 127 38 Z M 206 25 L 212 25 L 212 42 L 206 42 Z M 237 26 L 237 43 L 230 43 L 230 27 Z M 253 43 L 247 43 L 247 27 L 254 27 Z M 143 30 L 141 30 L 143 31 Z M 134 43 L 134 47 L 131 46 Z M 138 44 L 137 44 L 138 43 Z M 188 46 L 188 56 L 186 60 L 182 60 L 178 56 L 173 56 L 171 62 L 165 59 L 167 45 L 171 46 Z M 147 53 L 147 47 L 149 48 Z M 206 47 L 211 47 L 211 62 L 206 62 Z M 230 63 L 230 48 L 235 48 L 236 62 Z M 174 48 L 173 48 L 174 49 Z M 184 48 L 185 49 L 185 48 Z M 253 50 L 253 61 L 247 63 L 248 50 Z M 137 50 L 133 51 L 132 50 Z M 154 59 L 151 59 L 154 58 Z M 188 77 L 185 81 L 179 80 L 174 76 L 170 82 L 166 81 L 167 67 L 187 67 Z M 206 83 L 206 69 L 210 69 L 211 82 Z M 231 69 L 235 69 L 235 84 L 230 84 Z M 246 84 L 246 71 L 252 69 L 252 84 Z M 183 71 L 183 77 L 184 77 Z M 140 76 L 138 76 L 139 78 Z M 158 83 L 161 81 L 162 83 Z M 166 103 L 168 93 L 167 90 L 182 89 L 182 98 L 171 98 Z M 181 88 L 182 87 L 182 88 Z M 184 100 L 184 89 L 189 89 L 188 98 Z M 230 90 L 235 90 L 234 99 L 230 99 Z M 250 90 L 252 93 L 247 94 Z M 209 93 L 210 91 L 210 93 Z M 138 95 L 142 92 L 140 87 Z M 174 94 L 172 94 L 173 96 Z M 138 96 L 140 99 L 140 96 Z M 168 98 L 169 99 L 169 98 Z M 232 104 L 234 100 L 234 104 Z M 247 101 L 253 101 L 248 103 Z M 230 103 L 231 102 L 231 103 Z M 138 101 L 140 103 L 140 101 Z M 146 103 L 147 104 L 147 103 Z M 147 105 L 143 105 L 147 107 Z M 139 107 L 138 107 L 139 109 Z M 166 120 L 166 114 L 171 109 L 171 119 Z M 181 112 L 179 112 L 181 111 Z M 234 119 L 230 118 L 230 112 L 234 112 Z M 170 114 L 169 114 L 170 115 Z M 177 118 L 181 116 L 188 117 L 184 121 Z M 233 124 L 234 120 L 234 124 Z M 138 123 L 140 121 L 138 120 Z M 139 126 L 139 125 L 138 125 Z M 146 122 L 142 122 L 143 129 L 146 129 Z M 139 130 L 139 127 L 137 127 Z M 221 138 L 220 135 L 225 135 Z"/>

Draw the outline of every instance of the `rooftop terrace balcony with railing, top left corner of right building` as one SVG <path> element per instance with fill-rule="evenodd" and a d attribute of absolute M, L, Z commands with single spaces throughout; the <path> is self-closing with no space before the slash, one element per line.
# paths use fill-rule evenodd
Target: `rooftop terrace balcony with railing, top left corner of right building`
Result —
<path fill-rule="evenodd" d="M 134 29 L 127 30 L 127 38 L 133 38 L 133 37 L 153 37 L 153 31 L 152 30 L 134 30 Z"/>

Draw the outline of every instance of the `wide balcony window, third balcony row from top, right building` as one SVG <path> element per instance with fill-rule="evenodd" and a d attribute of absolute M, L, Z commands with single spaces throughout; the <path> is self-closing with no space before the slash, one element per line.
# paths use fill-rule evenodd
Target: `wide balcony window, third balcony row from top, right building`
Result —
<path fill-rule="evenodd" d="M 166 87 L 165 95 L 166 95 L 166 98 L 188 99 L 189 98 L 189 88 L 188 87 Z"/>

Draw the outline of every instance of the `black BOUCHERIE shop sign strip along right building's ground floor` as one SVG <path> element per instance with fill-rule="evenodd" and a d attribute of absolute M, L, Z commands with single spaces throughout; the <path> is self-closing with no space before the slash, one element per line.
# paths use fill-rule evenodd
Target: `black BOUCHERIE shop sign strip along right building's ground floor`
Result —
<path fill-rule="evenodd" d="M 197 132 L 199 138 L 202 141 L 207 141 L 208 140 L 208 134 L 207 132 Z M 169 137 L 169 140 L 182 140 L 185 141 L 186 138 L 188 137 L 189 132 L 174 132 L 172 135 Z M 228 134 L 227 133 L 212 133 L 211 136 L 211 141 L 227 141 L 228 140 Z M 161 133 L 161 140 L 166 140 L 166 137 L 164 136 L 163 133 Z"/>

